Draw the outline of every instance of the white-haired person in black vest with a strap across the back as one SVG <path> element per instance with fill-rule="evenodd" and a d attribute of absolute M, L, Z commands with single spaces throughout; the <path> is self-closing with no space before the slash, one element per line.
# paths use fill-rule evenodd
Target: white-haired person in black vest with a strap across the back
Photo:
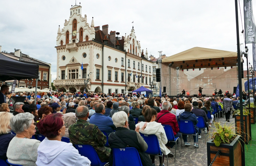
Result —
<path fill-rule="evenodd" d="M 125 148 L 126 145 L 124 145 L 122 142 L 116 139 L 116 137 L 118 137 L 120 140 L 124 141 L 129 147 L 134 147 L 138 150 L 141 163 L 143 166 L 152 166 L 150 158 L 145 153 L 145 151 L 148 149 L 148 145 L 144 141 L 144 139 L 140 136 L 139 127 L 137 127 L 135 131 L 128 129 L 127 114 L 124 111 L 116 112 L 113 115 L 112 119 L 116 126 L 116 131 L 115 131 L 116 136 L 113 133 L 110 133 L 108 137 L 109 146 L 111 148 Z M 141 128 L 141 131 L 143 131 L 145 127 L 146 126 L 144 125 Z M 113 165 L 112 151 L 109 157 L 109 165 L 110 166 Z"/>

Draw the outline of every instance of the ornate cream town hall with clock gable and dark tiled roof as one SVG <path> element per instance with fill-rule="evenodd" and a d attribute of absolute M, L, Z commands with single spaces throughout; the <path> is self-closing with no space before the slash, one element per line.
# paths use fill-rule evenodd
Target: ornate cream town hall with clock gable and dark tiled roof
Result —
<path fill-rule="evenodd" d="M 57 79 L 54 80 L 54 86 L 57 89 L 65 88 L 66 91 L 72 91 L 70 88 L 73 91 L 83 91 L 84 80 L 88 79 L 90 73 L 90 81 L 86 86 L 86 91 L 89 92 L 124 93 L 140 86 L 149 87 L 149 79 L 152 80 L 152 62 L 146 59 L 147 51 L 145 56 L 140 56 L 143 55 L 143 50 L 140 49 L 140 42 L 136 40 L 134 29 L 132 28 L 130 35 L 119 40 L 115 31 L 108 34 L 108 29 L 100 30 L 97 26 L 95 32 L 94 20 L 92 19 L 90 26 L 86 15 L 82 17 L 81 12 L 81 6 L 73 6 L 64 28 L 60 30 L 59 27 L 56 46 Z M 106 26 L 108 27 L 104 27 Z M 136 76 L 133 81 L 131 73 L 132 78 L 133 74 L 137 74 L 138 78 L 140 75 L 145 76 L 144 83 L 141 83 L 141 78 L 138 82 Z"/>

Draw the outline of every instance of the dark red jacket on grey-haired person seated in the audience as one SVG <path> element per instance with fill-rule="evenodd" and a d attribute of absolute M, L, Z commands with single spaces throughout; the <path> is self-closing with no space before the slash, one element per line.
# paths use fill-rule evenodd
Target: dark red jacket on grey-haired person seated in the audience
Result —
<path fill-rule="evenodd" d="M 161 110 L 161 112 L 159 112 L 157 114 L 156 119 L 158 119 L 158 117 L 160 117 L 161 115 L 163 115 L 166 112 L 169 112 L 169 111 Z M 164 116 L 160 117 L 157 122 L 161 123 L 161 124 L 167 124 L 167 125 L 172 126 L 172 131 L 174 133 L 174 136 L 177 134 L 177 132 L 180 131 L 179 125 L 178 125 L 178 122 L 177 122 L 177 119 L 176 119 L 176 115 L 174 115 L 170 112 L 168 114 L 165 114 Z"/>

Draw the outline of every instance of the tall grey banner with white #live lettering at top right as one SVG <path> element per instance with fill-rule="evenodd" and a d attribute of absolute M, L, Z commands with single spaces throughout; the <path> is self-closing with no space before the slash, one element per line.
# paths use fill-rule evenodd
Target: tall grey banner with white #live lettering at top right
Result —
<path fill-rule="evenodd" d="M 252 0 L 244 0 L 244 35 L 245 44 L 255 43 L 256 27 L 252 13 Z"/>

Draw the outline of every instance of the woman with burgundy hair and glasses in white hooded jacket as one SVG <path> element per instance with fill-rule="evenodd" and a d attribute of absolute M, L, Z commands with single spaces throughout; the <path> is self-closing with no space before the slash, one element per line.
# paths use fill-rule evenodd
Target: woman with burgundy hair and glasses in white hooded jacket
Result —
<path fill-rule="evenodd" d="M 81 156 L 72 143 L 61 142 L 66 125 L 60 113 L 47 115 L 38 122 L 38 130 L 46 138 L 37 148 L 37 166 L 90 166 L 91 161 Z"/>

